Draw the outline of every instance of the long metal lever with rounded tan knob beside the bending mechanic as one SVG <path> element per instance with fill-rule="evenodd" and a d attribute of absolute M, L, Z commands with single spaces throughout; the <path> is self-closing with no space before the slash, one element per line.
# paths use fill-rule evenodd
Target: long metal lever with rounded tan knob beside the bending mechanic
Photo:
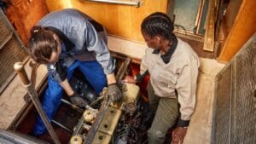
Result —
<path fill-rule="evenodd" d="M 50 137 L 55 142 L 55 144 L 61 144 L 61 141 L 59 140 L 58 136 L 55 134 L 55 131 L 54 131 L 52 125 L 49 123 L 49 119 L 46 117 L 46 114 L 45 114 L 45 112 L 41 106 L 41 103 L 38 99 L 37 91 L 31 84 L 30 80 L 28 79 L 22 62 L 16 62 L 14 68 L 15 68 L 15 71 L 18 73 L 20 80 L 22 81 L 24 87 L 26 87 L 27 93 L 28 93 L 28 95 L 30 95 L 34 106 L 36 107 L 40 117 L 42 118 L 42 120 L 44 122 L 46 129 L 49 132 Z"/>

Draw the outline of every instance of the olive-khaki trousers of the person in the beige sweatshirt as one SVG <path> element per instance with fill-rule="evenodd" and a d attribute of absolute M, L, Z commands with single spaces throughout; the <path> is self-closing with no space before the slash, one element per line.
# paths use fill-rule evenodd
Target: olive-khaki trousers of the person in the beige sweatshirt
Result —
<path fill-rule="evenodd" d="M 150 81 L 147 90 L 149 107 L 155 112 L 153 123 L 148 130 L 148 144 L 162 144 L 167 130 L 175 124 L 178 117 L 177 99 L 154 95 Z"/>

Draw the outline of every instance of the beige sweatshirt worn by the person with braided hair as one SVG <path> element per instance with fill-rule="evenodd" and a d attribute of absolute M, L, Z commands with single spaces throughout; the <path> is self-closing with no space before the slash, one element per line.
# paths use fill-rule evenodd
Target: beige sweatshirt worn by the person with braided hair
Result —
<path fill-rule="evenodd" d="M 148 70 L 155 95 L 177 98 L 182 120 L 189 120 L 195 109 L 195 92 L 200 61 L 188 43 L 177 38 L 177 48 L 166 64 L 154 49 L 146 49 L 140 74 Z M 177 90 L 177 96 L 175 95 Z"/>

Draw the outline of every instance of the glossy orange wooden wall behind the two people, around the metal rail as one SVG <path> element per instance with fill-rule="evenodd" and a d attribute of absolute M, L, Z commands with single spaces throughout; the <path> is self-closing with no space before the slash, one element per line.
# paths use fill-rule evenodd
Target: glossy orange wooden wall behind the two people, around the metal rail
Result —
<path fill-rule="evenodd" d="M 109 34 L 141 42 L 144 41 L 140 32 L 140 24 L 143 18 L 155 11 L 166 13 L 167 8 L 167 0 L 143 0 L 143 4 L 139 8 L 86 0 L 59 0 L 55 3 L 46 0 L 45 2 L 49 11 L 66 8 L 79 9 L 102 23 Z"/>

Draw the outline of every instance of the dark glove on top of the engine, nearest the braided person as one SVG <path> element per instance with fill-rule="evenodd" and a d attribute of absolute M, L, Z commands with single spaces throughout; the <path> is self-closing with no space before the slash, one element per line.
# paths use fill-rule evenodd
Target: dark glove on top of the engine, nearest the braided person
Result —
<path fill-rule="evenodd" d="M 107 95 L 110 96 L 111 101 L 117 102 L 122 99 L 122 93 L 117 84 L 108 84 Z"/>

